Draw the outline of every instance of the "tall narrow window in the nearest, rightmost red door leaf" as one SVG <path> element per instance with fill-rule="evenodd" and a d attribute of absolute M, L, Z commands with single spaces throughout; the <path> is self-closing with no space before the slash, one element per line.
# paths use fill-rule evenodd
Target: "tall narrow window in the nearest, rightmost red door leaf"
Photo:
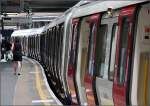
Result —
<path fill-rule="evenodd" d="M 127 47 L 128 47 L 128 18 L 124 17 L 122 20 L 122 33 L 120 36 L 120 51 L 119 51 L 119 70 L 118 70 L 118 83 L 122 85 L 125 79 Z"/>

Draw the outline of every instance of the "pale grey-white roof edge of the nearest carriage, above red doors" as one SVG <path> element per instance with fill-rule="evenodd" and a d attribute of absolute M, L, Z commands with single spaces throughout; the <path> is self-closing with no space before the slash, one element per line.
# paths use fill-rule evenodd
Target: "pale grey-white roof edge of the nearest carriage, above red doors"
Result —
<path fill-rule="evenodd" d="M 86 15 L 90 15 L 90 14 L 94 14 L 94 13 L 98 13 L 98 12 L 104 12 L 104 11 L 107 11 L 108 8 L 118 9 L 121 7 L 126 7 L 129 5 L 143 3 L 146 1 L 149 1 L 149 0 L 95 1 L 95 2 L 92 2 L 90 4 L 79 7 L 75 11 L 73 18 L 86 16 Z"/>

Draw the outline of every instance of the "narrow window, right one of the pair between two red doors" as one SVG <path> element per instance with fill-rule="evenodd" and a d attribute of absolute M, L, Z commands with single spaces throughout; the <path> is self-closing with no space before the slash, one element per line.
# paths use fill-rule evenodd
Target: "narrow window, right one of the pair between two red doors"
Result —
<path fill-rule="evenodd" d="M 112 27 L 111 54 L 110 54 L 110 67 L 109 67 L 109 80 L 111 81 L 113 80 L 114 77 L 117 31 L 118 31 L 118 25 L 114 24 Z"/>

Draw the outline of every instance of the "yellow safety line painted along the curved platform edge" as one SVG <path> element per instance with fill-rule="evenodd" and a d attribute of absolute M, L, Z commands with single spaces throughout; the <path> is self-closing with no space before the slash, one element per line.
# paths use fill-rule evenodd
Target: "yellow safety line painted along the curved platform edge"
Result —
<path fill-rule="evenodd" d="M 35 77 L 36 77 L 36 88 L 37 88 L 37 91 L 39 93 L 39 96 L 40 96 L 41 100 L 47 100 L 47 96 L 45 95 L 45 93 L 44 93 L 44 91 L 42 89 L 42 82 L 41 82 L 42 80 L 39 77 L 37 65 L 35 65 L 35 71 L 36 71 L 36 74 L 35 74 Z M 50 104 L 44 102 L 44 105 L 50 105 Z"/>

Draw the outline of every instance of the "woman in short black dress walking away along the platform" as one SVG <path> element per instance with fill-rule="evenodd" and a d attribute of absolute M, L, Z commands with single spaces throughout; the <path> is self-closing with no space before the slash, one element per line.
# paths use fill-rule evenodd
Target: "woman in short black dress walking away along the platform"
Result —
<path fill-rule="evenodd" d="M 19 41 L 19 38 L 15 39 L 15 42 L 12 43 L 12 52 L 13 52 L 13 66 L 14 66 L 14 74 L 20 75 L 20 71 L 22 68 L 22 46 Z"/>

